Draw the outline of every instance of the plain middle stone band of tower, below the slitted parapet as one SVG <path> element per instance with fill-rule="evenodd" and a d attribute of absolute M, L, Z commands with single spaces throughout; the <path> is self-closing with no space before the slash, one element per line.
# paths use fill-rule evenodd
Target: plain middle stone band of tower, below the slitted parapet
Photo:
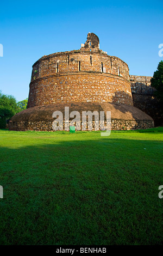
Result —
<path fill-rule="evenodd" d="M 133 105 L 130 83 L 109 74 L 54 74 L 30 83 L 28 108 L 67 102 L 113 102 Z"/>

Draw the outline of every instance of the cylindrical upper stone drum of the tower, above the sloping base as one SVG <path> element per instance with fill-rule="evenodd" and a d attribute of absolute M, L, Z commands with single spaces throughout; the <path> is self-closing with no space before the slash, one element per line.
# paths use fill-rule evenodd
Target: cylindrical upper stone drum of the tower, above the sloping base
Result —
<path fill-rule="evenodd" d="M 128 65 L 99 50 L 89 33 L 80 50 L 43 56 L 33 65 L 28 108 L 62 102 L 133 105 Z"/>

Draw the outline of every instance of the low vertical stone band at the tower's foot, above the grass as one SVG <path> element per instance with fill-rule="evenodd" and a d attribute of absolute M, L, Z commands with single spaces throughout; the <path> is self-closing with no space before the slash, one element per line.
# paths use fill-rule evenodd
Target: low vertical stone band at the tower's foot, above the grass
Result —
<path fill-rule="evenodd" d="M 71 121 L 71 120 L 70 120 Z M 52 129 L 52 121 L 21 121 L 10 122 L 9 130 L 12 131 L 54 131 Z M 92 121 L 92 131 L 95 130 L 95 121 Z M 89 131 L 88 126 L 90 124 L 86 122 L 86 130 Z M 106 121 L 105 121 L 106 126 Z M 80 127 L 82 130 L 82 121 L 80 121 Z M 149 129 L 154 127 L 152 120 L 111 120 L 111 130 L 137 130 L 137 129 Z M 63 125 L 65 129 L 65 122 Z M 99 126 L 100 130 L 100 126 Z"/>

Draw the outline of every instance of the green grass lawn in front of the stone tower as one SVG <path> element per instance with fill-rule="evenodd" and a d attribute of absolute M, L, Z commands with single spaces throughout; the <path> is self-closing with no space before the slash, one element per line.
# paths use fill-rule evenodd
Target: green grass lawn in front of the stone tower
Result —
<path fill-rule="evenodd" d="M 0 130 L 1 245 L 163 243 L 163 128 Z"/>

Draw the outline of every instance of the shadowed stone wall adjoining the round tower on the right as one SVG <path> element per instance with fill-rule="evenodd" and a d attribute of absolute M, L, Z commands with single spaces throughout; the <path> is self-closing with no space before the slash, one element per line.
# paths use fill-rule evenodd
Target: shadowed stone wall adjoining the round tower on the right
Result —
<path fill-rule="evenodd" d="M 163 125 L 159 101 L 154 97 L 155 88 L 151 87 L 151 76 L 130 75 L 134 107 L 141 109 L 154 119 L 155 126 Z"/>

